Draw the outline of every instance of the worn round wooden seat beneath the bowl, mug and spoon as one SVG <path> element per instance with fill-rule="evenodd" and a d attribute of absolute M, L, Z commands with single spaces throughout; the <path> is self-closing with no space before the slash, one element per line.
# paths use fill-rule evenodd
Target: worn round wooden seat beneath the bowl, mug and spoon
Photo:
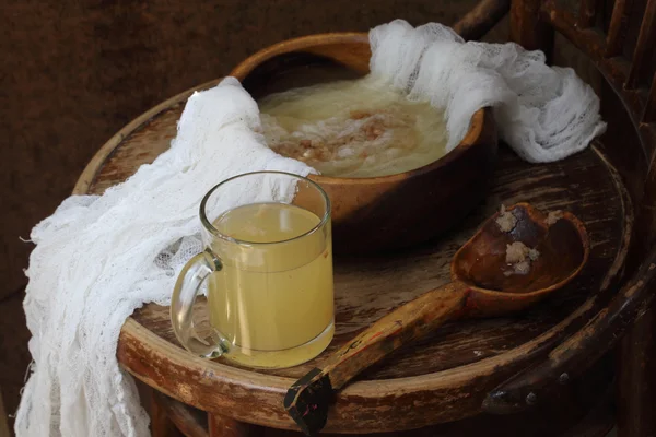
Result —
<path fill-rule="evenodd" d="M 90 164 L 77 191 L 102 192 L 166 150 L 188 95 L 172 98 L 124 129 Z M 447 324 L 399 352 L 340 394 L 327 429 L 383 432 L 478 412 L 487 390 L 573 329 L 579 316 L 604 299 L 601 293 L 585 302 L 609 283 L 608 277 L 605 281 L 609 269 L 614 275 L 622 264 L 631 217 L 624 196 L 619 178 L 596 149 L 549 165 L 526 164 L 502 149 L 488 201 L 448 237 L 396 255 L 336 259 L 337 332 L 327 353 L 397 305 L 443 284 L 455 250 L 502 202 L 529 201 L 544 210 L 572 211 L 586 224 L 591 241 L 588 265 L 562 293 L 514 317 Z M 236 418 L 283 428 L 294 426 L 282 410 L 284 391 L 326 356 L 266 373 L 195 358 L 175 342 L 167 308 L 155 305 L 126 323 L 118 347 L 126 368 L 174 398 L 218 413 L 229 408 Z M 393 400 L 394 416 L 387 413 Z"/>

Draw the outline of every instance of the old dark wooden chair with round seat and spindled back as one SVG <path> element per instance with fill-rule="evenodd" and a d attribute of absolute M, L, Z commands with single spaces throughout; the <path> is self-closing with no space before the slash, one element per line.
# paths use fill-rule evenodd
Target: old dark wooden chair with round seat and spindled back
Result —
<path fill-rule="evenodd" d="M 485 1 L 481 8 L 503 8 L 503 3 L 507 2 Z M 566 20 L 559 24 L 561 12 L 554 4 L 539 3 L 514 2 L 512 28 L 517 40 L 528 47 L 547 44 L 549 31 L 540 21 L 540 8 L 552 8 L 549 23 L 576 39 L 579 31 Z M 656 9 L 655 1 L 649 4 Z M 582 47 L 588 54 L 594 48 Z M 162 103 L 118 132 L 89 164 L 74 192 L 102 193 L 155 160 L 175 137 L 176 121 L 195 90 Z M 654 272 L 649 262 L 640 270 L 637 264 L 654 235 L 648 229 L 654 223 L 656 188 L 646 158 L 652 156 L 655 137 L 648 137 L 646 153 L 643 126 L 636 131 L 633 113 L 617 104 L 626 97 L 618 98 L 608 85 L 605 90 L 610 128 L 591 147 L 543 165 L 527 164 L 501 147 L 487 201 L 448 236 L 402 252 L 337 258 L 336 336 L 328 351 L 311 363 L 254 370 L 221 358 L 201 359 L 177 343 L 168 308 L 151 304 L 136 311 L 122 328 L 117 355 L 130 374 L 159 393 L 154 434 L 165 435 L 162 427 L 167 421 L 194 436 L 284 435 L 269 428 L 297 429 L 282 405 L 292 382 L 394 307 L 446 282 L 453 255 L 481 221 L 502 203 L 526 201 L 544 210 L 571 211 L 585 223 L 590 260 L 575 283 L 526 312 L 455 321 L 395 353 L 339 393 L 325 430 L 370 434 L 429 427 L 417 433 L 605 435 L 613 421 L 606 402 L 612 398 L 612 373 L 608 359 L 598 358 L 647 309 L 651 297 L 645 290 Z M 652 97 L 653 103 L 656 92 Z M 653 126 L 651 126 L 651 135 Z M 641 238 L 634 237 L 636 231 Z M 623 277 L 628 273 L 633 274 L 629 280 Z M 194 409 L 209 413 L 209 425 Z M 593 434 L 576 427 L 586 418 L 597 426 L 587 426 L 586 433 Z"/>

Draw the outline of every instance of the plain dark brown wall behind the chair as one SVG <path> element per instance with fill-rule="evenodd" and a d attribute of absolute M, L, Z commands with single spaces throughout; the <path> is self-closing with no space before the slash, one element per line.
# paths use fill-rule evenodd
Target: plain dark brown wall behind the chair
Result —
<path fill-rule="evenodd" d="M 132 118 L 298 35 L 403 17 L 454 23 L 475 0 L 3 0 L 0 4 L 0 390 L 15 411 L 30 361 L 30 229 Z M 495 32 L 504 39 L 507 27 Z M 1 413 L 0 413 L 1 414 Z"/>

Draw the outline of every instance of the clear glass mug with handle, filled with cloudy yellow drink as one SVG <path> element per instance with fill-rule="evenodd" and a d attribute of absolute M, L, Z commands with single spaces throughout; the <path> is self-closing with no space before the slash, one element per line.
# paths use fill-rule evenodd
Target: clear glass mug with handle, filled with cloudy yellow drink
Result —
<path fill-rule="evenodd" d="M 206 250 L 183 268 L 171 300 L 183 346 L 260 368 L 320 354 L 335 331 L 326 192 L 301 176 L 248 173 L 212 188 L 200 221 Z M 207 314 L 199 323 L 203 308 L 194 303 L 206 285 Z"/>

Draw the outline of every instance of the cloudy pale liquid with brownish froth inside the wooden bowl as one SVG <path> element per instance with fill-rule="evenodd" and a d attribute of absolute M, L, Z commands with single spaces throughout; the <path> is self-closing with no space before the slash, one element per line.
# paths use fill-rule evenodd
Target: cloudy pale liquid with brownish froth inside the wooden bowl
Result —
<path fill-rule="evenodd" d="M 446 154 L 444 113 L 373 76 L 271 94 L 259 107 L 267 144 L 326 176 L 394 175 Z"/>

